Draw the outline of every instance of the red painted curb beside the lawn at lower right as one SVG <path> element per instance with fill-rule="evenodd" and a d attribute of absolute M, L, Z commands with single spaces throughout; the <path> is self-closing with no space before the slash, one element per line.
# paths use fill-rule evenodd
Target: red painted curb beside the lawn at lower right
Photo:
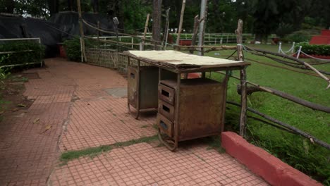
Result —
<path fill-rule="evenodd" d="M 271 185 L 322 185 L 234 132 L 221 133 L 221 146 Z"/>

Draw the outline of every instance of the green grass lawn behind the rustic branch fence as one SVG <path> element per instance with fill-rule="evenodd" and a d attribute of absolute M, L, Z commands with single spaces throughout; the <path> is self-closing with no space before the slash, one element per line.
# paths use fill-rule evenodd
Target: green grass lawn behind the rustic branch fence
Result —
<path fill-rule="evenodd" d="M 249 45 L 248 45 L 249 46 Z M 264 49 L 268 51 L 278 51 L 278 46 L 274 45 L 254 45 L 251 47 Z M 288 50 L 291 45 L 283 45 L 283 51 Z M 219 53 L 220 55 L 214 55 Z M 205 56 L 214 56 L 226 58 L 233 51 L 212 51 Z M 262 56 L 252 55 L 245 52 L 245 58 L 251 58 L 256 61 L 262 61 L 273 65 L 283 66 Z M 234 55 L 236 56 L 236 54 Z M 310 61 L 310 60 L 305 60 Z M 324 106 L 330 106 L 330 89 L 326 90 L 328 85 L 320 77 L 296 73 L 291 70 L 266 66 L 251 61 L 251 66 L 247 67 L 247 80 L 255 82 L 258 85 L 272 87 L 282 92 L 292 94 L 295 97 L 312 101 Z M 315 66 L 319 70 L 330 72 L 330 63 Z M 304 70 L 300 70 L 304 71 Z M 305 70 L 308 71 L 308 70 Z M 239 76 L 239 72 L 233 72 L 233 75 Z M 223 75 L 212 73 L 212 78 L 219 79 Z M 236 86 L 239 81 L 231 78 L 228 82 L 228 101 L 239 103 L 240 96 L 237 94 Z M 330 114 L 322 111 L 313 111 L 292 101 L 281 99 L 266 92 L 255 92 L 248 97 L 247 105 L 257 111 L 283 121 L 289 125 L 303 130 L 319 140 L 330 144 Z M 240 110 L 235 106 L 227 105 L 226 125 L 228 130 L 238 130 Z M 248 113 L 253 116 L 252 113 Z M 247 140 L 259 147 L 266 149 L 275 156 L 311 175 L 314 179 L 323 182 L 324 185 L 330 185 L 330 151 L 312 144 L 298 135 L 293 135 L 283 130 L 276 129 L 252 118 L 247 119 Z"/>

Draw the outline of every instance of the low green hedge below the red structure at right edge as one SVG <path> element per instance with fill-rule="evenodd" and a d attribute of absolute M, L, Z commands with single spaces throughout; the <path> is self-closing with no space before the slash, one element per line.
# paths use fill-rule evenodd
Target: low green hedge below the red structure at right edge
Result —
<path fill-rule="evenodd" d="M 307 42 L 301 42 L 295 46 L 295 51 L 298 51 L 299 46 L 302 46 L 301 50 L 306 54 L 314 54 L 320 56 L 330 55 L 330 45 L 309 44 Z"/>

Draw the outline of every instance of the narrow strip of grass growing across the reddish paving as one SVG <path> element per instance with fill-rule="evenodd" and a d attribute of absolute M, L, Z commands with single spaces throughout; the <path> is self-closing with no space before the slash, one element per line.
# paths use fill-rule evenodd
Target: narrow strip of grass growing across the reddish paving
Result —
<path fill-rule="evenodd" d="M 90 158 L 93 158 L 94 156 L 97 156 L 101 154 L 102 152 L 111 151 L 111 149 L 119 148 L 119 147 L 127 147 L 133 144 L 139 144 L 144 142 L 152 142 L 154 140 L 158 140 L 157 135 L 151 136 L 151 137 L 141 137 L 138 140 L 130 140 L 127 142 L 116 142 L 115 144 L 110 145 L 102 145 L 99 147 L 92 147 L 88 149 L 82 149 L 78 151 L 66 151 L 63 154 L 61 154 L 60 160 L 62 161 L 62 165 L 68 163 L 68 161 L 71 161 L 73 159 L 78 159 L 82 156 L 90 156 Z"/>

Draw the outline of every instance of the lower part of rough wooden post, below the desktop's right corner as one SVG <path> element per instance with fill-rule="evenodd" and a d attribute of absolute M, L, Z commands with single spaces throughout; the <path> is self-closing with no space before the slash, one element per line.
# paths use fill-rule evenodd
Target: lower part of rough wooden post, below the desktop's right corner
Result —
<path fill-rule="evenodd" d="M 245 137 L 246 131 L 246 109 L 247 109 L 247 98 L 246 98 L 246 72 L 245 68 L 240 69 L 240 136 Z"/>

